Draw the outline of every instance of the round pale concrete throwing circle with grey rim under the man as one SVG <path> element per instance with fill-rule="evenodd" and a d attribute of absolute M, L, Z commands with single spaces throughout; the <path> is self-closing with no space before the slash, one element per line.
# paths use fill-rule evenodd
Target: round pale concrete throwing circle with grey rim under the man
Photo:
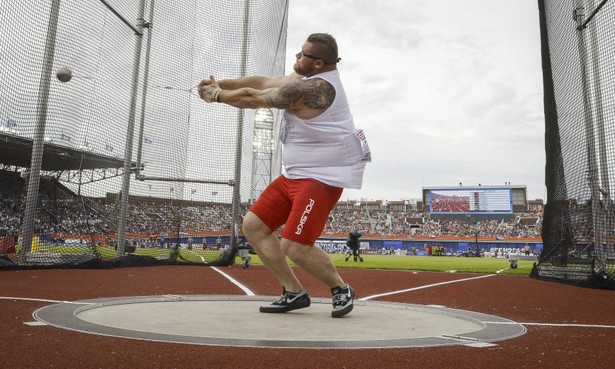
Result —
<path fill-rule="evenodd" d="M 330 299 L 263 314 L 274 297 L 144 296 L 77 301 L 37 310 L 37 320 L 94 334 L 154 341 L 249 347 L 387 348 L 486 344 L 525 327 L 499 317 L 440 306 L 356 301 L 341 319 Z"/>

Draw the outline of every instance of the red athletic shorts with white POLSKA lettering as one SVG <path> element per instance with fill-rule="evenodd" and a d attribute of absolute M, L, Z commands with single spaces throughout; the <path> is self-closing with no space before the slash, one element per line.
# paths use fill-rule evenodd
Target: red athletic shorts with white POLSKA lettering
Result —
<path fill-rule="evenodd" d="M 250 211 L 271 231 L 284 225 L 282 238 L 311 246 L 321 235 L 343 190 L 315 179 L 279 176 L 267 186 Z"/>

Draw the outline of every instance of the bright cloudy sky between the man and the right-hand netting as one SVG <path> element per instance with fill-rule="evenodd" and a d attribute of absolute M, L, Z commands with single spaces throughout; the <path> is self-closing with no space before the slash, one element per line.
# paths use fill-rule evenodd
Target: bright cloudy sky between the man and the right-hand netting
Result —
<path fill-rule="evenodd" d="M 313 32 L 336 37 L 351 109 L 374 154 L 363 189 L 344 197 L 510 182 L 544 198 L 535 2 L 291 1 L 288 70 Z"/>

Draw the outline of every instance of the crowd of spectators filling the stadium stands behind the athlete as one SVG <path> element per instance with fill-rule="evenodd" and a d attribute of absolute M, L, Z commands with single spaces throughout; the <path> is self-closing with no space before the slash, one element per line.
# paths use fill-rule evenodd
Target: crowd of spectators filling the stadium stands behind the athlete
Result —
<path fill-rule="evenodd" d="M 110 234 L 117 231 L 118 203 L 102 199 L 69 198 L 42 200 L 35 220 L 40 234 Z M 245 214 L 247 207 L 240 209 Z M 23 222 L 23 203 L 0 199 L 0 229 L 19 231 Z M 131 204 L 127 233 L 160 233 L 188 231 L 227 231 L 231 229 L 230 205 L 139 202 Z M 518 214 L 508 219 L 477 220 L 465 218 L 433 218 L 429 212 L 416 210 L 367 209 L 339 206 L 334 209 L 324 233 L 386 236 L 456 236 L 526 238 L 540 237 L 542 213 Z"/>

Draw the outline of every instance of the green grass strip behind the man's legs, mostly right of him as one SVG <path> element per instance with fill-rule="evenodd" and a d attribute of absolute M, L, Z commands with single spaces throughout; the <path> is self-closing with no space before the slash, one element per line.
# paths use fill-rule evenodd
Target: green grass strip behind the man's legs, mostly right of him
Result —
<path fill-rule="evenodd" d="M 260 264 L 257 255 L 252 256 L 252 264 Z M 519 260 L 517 268 L 511 269 L 505 258 L 466 258 L 454 256 L 396 256 L 396 255 L 363 255 L 363 262 L 354 262 L 352 258 L 344 260 L 344 254 L 331 254 L 331 260 L 338 268 L 358 269 L 388 269 L 388 270 L 421 270 L 433 272 L 463 272 L 529 275 L 533 262 Z M 240 264 L 239 258 L 237 262 Z"/>

